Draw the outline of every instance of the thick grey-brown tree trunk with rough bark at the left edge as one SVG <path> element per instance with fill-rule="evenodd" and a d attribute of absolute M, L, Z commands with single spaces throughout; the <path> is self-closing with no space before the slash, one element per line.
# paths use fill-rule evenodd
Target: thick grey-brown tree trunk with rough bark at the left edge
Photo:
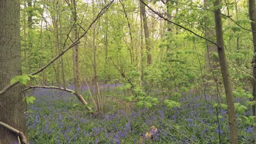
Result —
<path fill-rule="evenodd" d="M 20 1 L 0 0 L 0 89 L 21 75 Z M 23 131 L 26 135 L 26 103 L 22 101 L 21 85 L 0 95 L 0 121 Z M 0 143 L 17 142 L 17 135 L 0 126 Z"/>

